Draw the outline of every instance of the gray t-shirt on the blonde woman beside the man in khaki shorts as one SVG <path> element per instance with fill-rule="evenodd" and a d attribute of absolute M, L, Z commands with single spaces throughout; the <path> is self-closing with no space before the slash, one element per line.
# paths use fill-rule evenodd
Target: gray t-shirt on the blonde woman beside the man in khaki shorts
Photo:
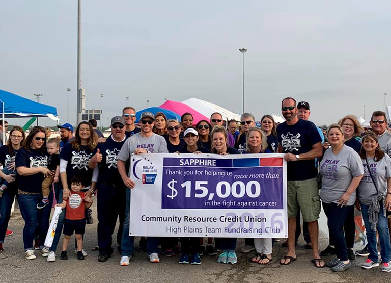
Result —
<path fill-rule="evenodd" d="M 320 198 L 325 203 L 338 203 L 353 177 L 364 174 L 364 169 L 358 153 L 344 145 L 338 155 L 334 155 L 331 148 L 326 150 L 320 163 L 320 173 L 323 177 Z M 353 205 L 355 201 L 356 191 L 350 195 L 347 205 Z"/>

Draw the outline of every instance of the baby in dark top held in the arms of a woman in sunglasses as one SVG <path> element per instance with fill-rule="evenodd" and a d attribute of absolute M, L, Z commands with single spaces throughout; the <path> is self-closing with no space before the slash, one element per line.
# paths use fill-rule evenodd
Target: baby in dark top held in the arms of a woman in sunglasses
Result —
<path fill-rule="evenodd" d="M 60 140 L 57 138 L 51 138 L 46 143 L 47 153 L 49 158 L 47 160 L 47 168 L 50 171 L 55 171 L 54 178 L 52 175 L 48 175 L 42 182 L 42 201 L 37 204 L 37 209 L 43 209 L 49 203 L 49 193 L 51 185 L 59 182 L 60 176 Z"/>

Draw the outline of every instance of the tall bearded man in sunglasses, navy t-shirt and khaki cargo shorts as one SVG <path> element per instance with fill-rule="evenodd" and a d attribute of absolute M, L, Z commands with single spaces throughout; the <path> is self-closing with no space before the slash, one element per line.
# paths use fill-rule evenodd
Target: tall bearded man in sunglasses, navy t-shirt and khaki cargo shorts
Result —
<path fill-rule="evenodd" d="M 295 99 L 284 98 L 281 104 L 286 121 L 277 127 L 277 138 L 278 152 L 285 153 L 287 161 L 288 253 L 280 264 L 288 265 L 296 261 L 296 216 L 301 210 L 303 220 L 308 222 L 312 263 L 318 268 L 324 267 L 318 246 L 320 199 L 316 179 L 318 170 L 315 167 L 315 158 L 322 156 L 322 139 L 313 122 L 297 117 Z"/>

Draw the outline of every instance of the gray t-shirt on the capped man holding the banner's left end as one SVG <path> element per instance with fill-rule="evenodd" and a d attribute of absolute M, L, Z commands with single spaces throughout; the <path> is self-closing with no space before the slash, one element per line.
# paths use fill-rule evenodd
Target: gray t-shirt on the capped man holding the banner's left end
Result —
<path fill-rule="evenodd" d="M 123 162 L 128 161 L 130 155 L 137 148 L 145 149 L 151 153 L 169 153 L 169 150 L 167 150 L 167 143 L 162 136 L 152 133 L 152 136 L 144 138 L 140 135 L 140 133 L 137 133 L 125 141 L 120 153 L 118 154 L 118 159 L 121 159 Z M 130 168 L 131 166 L 129 167 L 128 172 L 129 177 Z"/>

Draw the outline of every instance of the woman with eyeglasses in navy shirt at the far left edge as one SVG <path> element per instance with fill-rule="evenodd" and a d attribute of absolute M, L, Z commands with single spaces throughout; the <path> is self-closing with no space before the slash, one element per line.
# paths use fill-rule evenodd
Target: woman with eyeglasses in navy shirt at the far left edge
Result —
<path fill-rule="evenodd" d="M 4 180 L 0 187 L 0 252 L 3 251 L 12 203 L 18 191 L 18 184 L 15 182 L 15 155 L 21 148 L 24 138 L 23 128 L 14 126 L 10 132 L 8 144 L 0 147 L 0 164 L 4 166 L 3 171 L 0 171 L 0 178 Z M 8 234 L 11 233 L 12 231 L 9 231 Z"/>

